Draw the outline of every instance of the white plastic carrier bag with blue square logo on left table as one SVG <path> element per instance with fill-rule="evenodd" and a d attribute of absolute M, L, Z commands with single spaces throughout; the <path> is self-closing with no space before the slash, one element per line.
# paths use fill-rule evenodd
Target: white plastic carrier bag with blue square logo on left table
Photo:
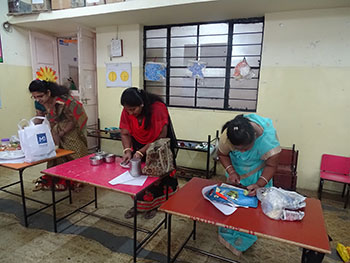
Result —
<path fill-rule="evenodd" d="M 35 125 L 35 119 L 42 119 L 43 122 Z M 25 126 L 20 125 L 23 122 L 26 122 Z M 18 137 L 25 162 L 31 163 L 56 156 L 50 124 L 45 117 L 33 117 L 30 121 L 21 120 L 18 123 Z"/>

